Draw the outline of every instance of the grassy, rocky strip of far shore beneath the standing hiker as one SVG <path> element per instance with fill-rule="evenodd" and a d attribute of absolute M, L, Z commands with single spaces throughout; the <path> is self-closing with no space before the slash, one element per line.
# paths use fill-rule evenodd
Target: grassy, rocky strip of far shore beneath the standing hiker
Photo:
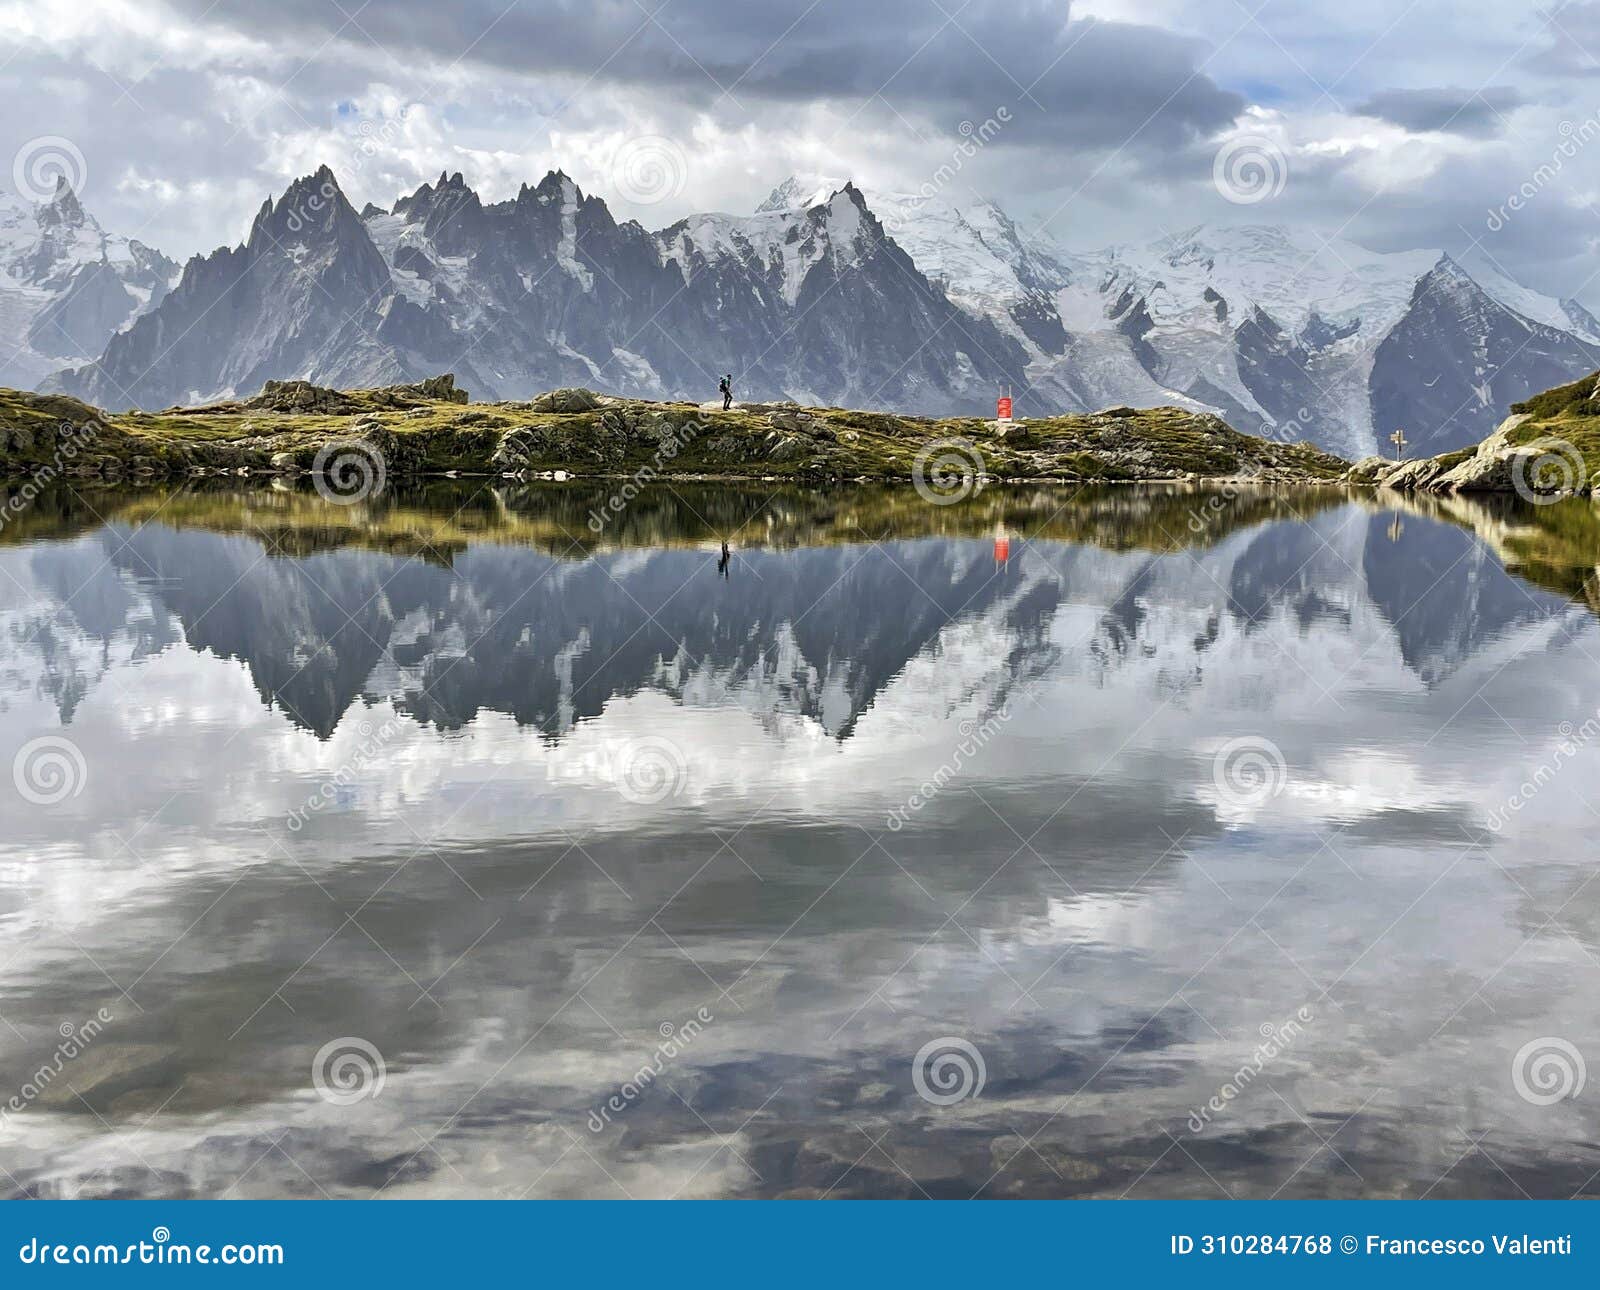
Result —
<path fill-rule="evenodd" d="M 72 399 L 0 391 L 8 474 L 37 471 L 51 427 L 96 432 L 74 472 L 214 474 L 341 471 L 374 480 L 445 472 L 533 475 L 790 477 L 922 480 L 1198 480 L 1310 483 L 1347 467 L 1304 443 L 1232 431 L 1182 408 L 1112 408 L 1013 424 L 906 418 L 845 408 L 747 405 L 722 411 L 618 399 L 582 387 L 530 402 L 464 405 L 451 376 L 338 391 L 272 381 L 248 400 L 163 413 L 104 415 Z M 363 466 L 365 463 L 365 466 Z"/>

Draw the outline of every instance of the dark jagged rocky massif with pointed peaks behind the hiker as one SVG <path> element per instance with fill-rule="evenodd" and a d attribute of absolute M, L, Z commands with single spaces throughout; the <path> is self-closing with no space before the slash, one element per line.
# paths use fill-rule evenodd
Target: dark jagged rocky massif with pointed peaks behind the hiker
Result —
<path fill-rule="evenodd" d="M 618 224 L 565 174 L 485 205 L 442 174 L 358 216 L 331 171 L 262 208 L 250 240 L 190 261 L 171 298 L 56 386 L 160 407 L 274 376 L 410 381 L 482 397 L 563 384 L 978 411 L 1021 349 L 955 306 L 851 187 L 805 211 Z"/>

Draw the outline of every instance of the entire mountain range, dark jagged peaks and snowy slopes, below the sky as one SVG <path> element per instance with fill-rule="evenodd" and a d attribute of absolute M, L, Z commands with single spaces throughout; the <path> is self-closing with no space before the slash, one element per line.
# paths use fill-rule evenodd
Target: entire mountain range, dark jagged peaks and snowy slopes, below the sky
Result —
<path fill-rule="evenodd" d="M 69 189 L 0 205 L 0 384 L 101 407 L 454 371 L 478 399 L 592 386 L 978 415 L 1210 410 L 1358 458 L 1478 442 L 1600 367 L 1600 320 L 1486 258 L 1200 226 L 1072 253 L 992 202 L 792 176 L 747 216 L 618 222 L 563 173 L 485 203 L 440 174 L 357 211 L 326 166 L 178 272 Z M 85 362 L 86 360 L 86 362 Z"/>

